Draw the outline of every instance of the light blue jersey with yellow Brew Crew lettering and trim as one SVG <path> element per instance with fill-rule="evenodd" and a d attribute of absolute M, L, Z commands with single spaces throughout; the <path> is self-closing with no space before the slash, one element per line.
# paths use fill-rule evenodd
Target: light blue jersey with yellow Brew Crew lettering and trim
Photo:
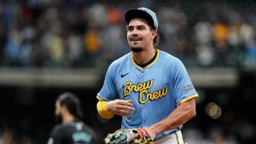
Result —
<path fill-rule="evenodd" d="M 122 129 L 149 127 L 166 118 L 184 101 L 198 97 L 181 60 L 161 50 L 157 50 L 155 60 L 144 68 L 137 66 L 131 53 L 113 61 L 98 96 L 105 101 L 132 100 L 135 112 L 123 117 Z"/>

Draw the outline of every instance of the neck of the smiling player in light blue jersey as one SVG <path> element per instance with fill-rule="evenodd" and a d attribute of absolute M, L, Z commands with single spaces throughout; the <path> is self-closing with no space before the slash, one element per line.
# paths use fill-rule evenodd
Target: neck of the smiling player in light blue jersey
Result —
<path fill-rule="evenodd" d="M 146 49 L 141 52 L 132 52 L 132 59 L 136 61 L 137 64 L 143 65 L 148 63 L 154 57 L 156 49 Z"/>

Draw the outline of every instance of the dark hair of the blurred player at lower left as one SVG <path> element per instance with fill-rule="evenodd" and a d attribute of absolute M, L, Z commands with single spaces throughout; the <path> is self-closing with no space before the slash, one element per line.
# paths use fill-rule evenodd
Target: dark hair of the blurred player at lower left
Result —
<path fill-rule="evenodd" d="M 75 118 L 82 119 L 84 117 L 84 113 L 81 109 L 81 102 L 79 98 L 73 93 L 63 93 L 59 96 L 57 101 L 60 101 L 61 106 L 65 105 L 67 107 L 68 112 L 73 114 Z"/>

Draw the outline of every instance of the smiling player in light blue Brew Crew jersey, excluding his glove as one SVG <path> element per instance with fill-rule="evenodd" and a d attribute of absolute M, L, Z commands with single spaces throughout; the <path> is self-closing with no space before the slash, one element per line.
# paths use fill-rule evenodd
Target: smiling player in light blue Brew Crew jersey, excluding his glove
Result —
<path fill-rule="evenodd" d="M 155 144 L 183 144 L 183 124 L 195 117 L 198 95 L 181 60 L 155 46 L 158 20 L 146 8 L 125 13 L 131 53 L 108 67 L 97 110 L 122 116 L 121 129 L 147 128 Z M 130 140 L 138 135 L 131 135 Z"/>

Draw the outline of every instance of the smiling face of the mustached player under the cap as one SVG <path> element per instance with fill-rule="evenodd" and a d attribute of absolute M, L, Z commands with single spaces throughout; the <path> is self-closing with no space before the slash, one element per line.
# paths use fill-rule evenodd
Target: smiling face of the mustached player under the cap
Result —
<path fill-rule="evenodd" d="M 134 18 L 127 26 L 127 41 L 131 49 L 147 49 L 153 46 L 154 31 L 148 26 L 148 21 Z"/>

